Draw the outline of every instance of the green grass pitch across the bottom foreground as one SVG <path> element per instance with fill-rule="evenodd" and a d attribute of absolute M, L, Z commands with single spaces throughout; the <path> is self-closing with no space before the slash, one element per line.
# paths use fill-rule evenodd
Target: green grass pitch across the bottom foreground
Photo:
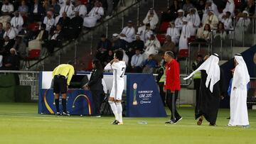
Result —
<path fill-rule="evenodd" d="M 38 114 L 37 104 L 0 103 L 0 144 L 256 143 L 256 111 L 249 110 L 250 128 L 226 126 L 228 109 L 220 109 L 215 127 L 196 126 L 193 108 L 178 111 L 183 120 L 176 125 L 164 124 L 166 117 L 124 118 L 123 126 L 112 126 L 112 116 L 57 117 Z"/>

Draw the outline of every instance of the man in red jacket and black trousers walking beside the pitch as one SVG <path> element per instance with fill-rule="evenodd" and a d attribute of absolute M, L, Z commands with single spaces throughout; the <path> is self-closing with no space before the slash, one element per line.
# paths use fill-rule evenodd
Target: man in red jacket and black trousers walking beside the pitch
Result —
<path fill-rule="evenodd" d="M 179 65 L 174 59 L 174 52 L 167 51 L 164 54 L 166 64 L 166 80 L 164 89 L 166 91 L 166 104 L 171 110 L 171 119 L 166 123 L 177 123 L 181 121 L 182 117 L 176 110 L 176 100 L 178 98 L 178 91 L 181 90 L 181 82 L 179 77 Z"/>

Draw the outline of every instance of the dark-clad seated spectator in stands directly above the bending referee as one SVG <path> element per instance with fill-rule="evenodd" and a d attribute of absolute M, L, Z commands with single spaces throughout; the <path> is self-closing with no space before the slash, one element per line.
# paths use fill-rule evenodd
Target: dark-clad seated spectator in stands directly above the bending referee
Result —
<path fill-rule="evenodd" d="M 53 36 L 50 38 L 48 43 L 46 43 L 46 48 L 48 49 L 48 52 L 53 54 L 55 47 L 60 47 L 62 40 L 64 38 L 64 34 L 62 31 L 62 26 L 60 24 L 57 24 L 56 30 L 53 33 Z"/>

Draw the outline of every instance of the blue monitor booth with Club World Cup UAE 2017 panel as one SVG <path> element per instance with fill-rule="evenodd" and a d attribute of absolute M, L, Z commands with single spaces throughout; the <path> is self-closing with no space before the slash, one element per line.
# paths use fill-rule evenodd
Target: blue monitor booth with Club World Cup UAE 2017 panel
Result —
<path fill-rule="evenodd" d="M 110 112 L 107 97 L 112 89 L 112 73 L 105 73 L 102 84 L 105 101 L 102 112 Z M 56 112 L 52 88 L 52 72 L 41 72 L 39 77 L 38 113 L 54 114 Z M 90 116 L 95 113 L 94 101 L 90 91 L 82 89 L 90 79 L 89 72 L 78 72 L 73 75 L 67 92 L 67 110 L 71 115 Z M 124 116 L 129 117 L 164 117 L 166 111 L 159 95 L 153 74 L 125 74 L 125 85 L 122 96 Z M 60 99 L 60 112 L 61 111 Z M 103 114 L 104 114 L 103 113 Z"/>

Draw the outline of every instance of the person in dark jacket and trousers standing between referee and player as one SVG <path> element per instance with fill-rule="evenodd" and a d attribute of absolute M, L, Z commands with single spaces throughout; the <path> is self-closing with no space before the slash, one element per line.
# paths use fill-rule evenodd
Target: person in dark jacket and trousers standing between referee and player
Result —
<path fill-rule="evenodd" d="M 95 103 L 95 116 L 100 117 L 100 106 L 104 99 L 102 86 L 103 69 L 99 60 L 92 60 L 92 68 L 90 80 L 85 84 L 84 88 L 92 92 L 92 99 Z"/>

